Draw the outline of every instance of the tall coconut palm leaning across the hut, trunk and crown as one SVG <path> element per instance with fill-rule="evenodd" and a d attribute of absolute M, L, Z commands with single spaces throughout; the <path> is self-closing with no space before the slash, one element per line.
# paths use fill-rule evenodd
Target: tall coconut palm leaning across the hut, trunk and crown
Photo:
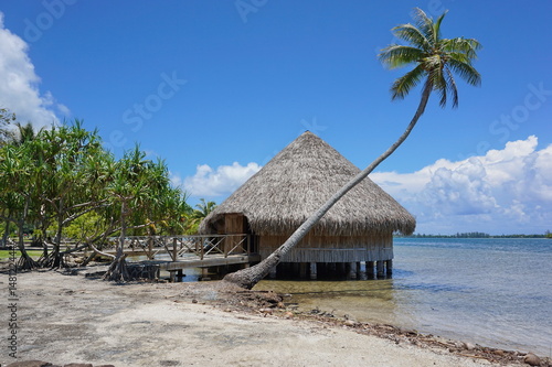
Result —
<path fill-rule="evenodd" d="M 395 36 L 410 45 L 392 44 L 383 48 L 380 61 L 390 68 L 415 65 L 412 71 L 396 79 L 391 87 L 391 98 L 402 99 L 420 84 L 423 84 L 422 98 L 410 125 L 399 140 L 383 154 L 378 156 L 364 171 L 351 179 L 333 196 L 314 213 L 299 228 L 269 257 L 248 269 L 227 274 L 226 281 L 243 288 L 253 288 L 269 270 L 277 266 L 284 255 L 294 248 L 321 217 L 352 187 L 364 180 L 381 162 L 390 156 L 408 137 L 420 117 L 424 114 L 432 91 L 439 96 L 439 106 L 445 107 L 449 97 L 453 107 L 458 106 L 458 90 L 454 74 L 469 85 L 478 86 L 481 83 L 479 73 L 471 62 L 477 58 L 477 51 L 481 47 L 474 39 L 443 39 L 440 23 L 446 12 L 437 20 L 427 17 L 421 9 L 414 10 L 415 24 L 401 24 L 392 29 Z"/>

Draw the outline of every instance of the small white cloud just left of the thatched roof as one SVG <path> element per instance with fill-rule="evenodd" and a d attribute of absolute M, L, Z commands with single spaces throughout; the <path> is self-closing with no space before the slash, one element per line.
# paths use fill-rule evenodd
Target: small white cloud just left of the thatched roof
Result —
<path fill-rule="evenodd" d="M 232 165 L 221 165 L 213 170 L 206 164 L 198 165 L 195 174 L 185 177 L 183 186 L 192 196 L 222 196 L 231 194 L 245 181 L 261 170 L 255 162 L 243 166 L 237 162 Z M 172 179 L 173 184 L 182 183 L 178 177 Z"/>

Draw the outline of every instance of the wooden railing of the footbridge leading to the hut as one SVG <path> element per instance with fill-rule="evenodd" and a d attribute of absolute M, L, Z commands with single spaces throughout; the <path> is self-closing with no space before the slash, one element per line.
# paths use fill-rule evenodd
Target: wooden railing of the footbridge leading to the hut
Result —
<path fill-rule="evenodd" d="M 135 236 L 127 237 L 125 248 L 144 251 L 149 259 L 168 252 L 172 261 L 187 255 L 203 260 L 208 256 L 247 255 L 252 252 L 248 235 Z"/>

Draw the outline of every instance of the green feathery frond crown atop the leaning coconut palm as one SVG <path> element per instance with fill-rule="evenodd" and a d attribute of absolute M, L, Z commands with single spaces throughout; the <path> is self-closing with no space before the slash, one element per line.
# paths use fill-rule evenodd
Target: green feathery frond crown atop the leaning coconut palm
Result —
<path fill-rule="evenodd" d="M 414 9 L 415 24 L 393 28 L 393 34 L 410 45 L 392 44 L 378 55 L 390 68 L 415 64 L 416 66 L 397 78 L 391 86 L 392 99 L 403 99 L 425 78 L 424 93 L 436 91 L 439 105 L 445 107 L 452 96 L 453 107 L 458 106 L 458 90 L 453 73 L 473 86 L 481 84 L 481 76 L 471 65 L 481 45 L 474 39 L 442 39 L 440 23 L 446 11 L 434 21 L 418 9 Z"/>

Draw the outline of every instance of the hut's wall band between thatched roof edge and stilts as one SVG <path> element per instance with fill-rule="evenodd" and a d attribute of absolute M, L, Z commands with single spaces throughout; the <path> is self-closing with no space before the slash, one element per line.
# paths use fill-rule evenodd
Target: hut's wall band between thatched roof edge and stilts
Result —
<path fill-rule="evenodd" d="M 289 236 L 261 236 L 263 259 L 276 250 Z M 393 236 L 307 236 L 283 262 L 359 262 L 393 259 Z"/>

